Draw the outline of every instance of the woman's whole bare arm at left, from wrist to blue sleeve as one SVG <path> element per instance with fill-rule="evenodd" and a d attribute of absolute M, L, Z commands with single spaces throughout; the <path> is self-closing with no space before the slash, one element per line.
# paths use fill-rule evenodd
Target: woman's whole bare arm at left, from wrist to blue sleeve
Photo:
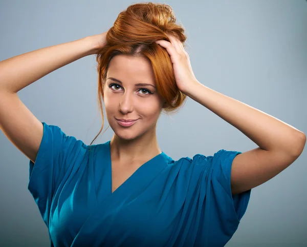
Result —
<path fill-rule="evenodd" d="M 94 35 L 42 48 L 0 62 L 0 130 L 35 162 L 43 126 L 19 99 L 17 92 L 52 71 L 99 49 Z M 101 43 L 101 39 L 99 40 Z"/>

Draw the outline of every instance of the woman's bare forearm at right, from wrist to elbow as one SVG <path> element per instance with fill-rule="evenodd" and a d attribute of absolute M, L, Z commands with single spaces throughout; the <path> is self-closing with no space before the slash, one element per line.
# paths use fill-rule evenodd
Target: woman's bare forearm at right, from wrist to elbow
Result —
<path fill-rule="evenodd" d="M 306 136 L 303 132 L 234 98 L 198 82 L 186 94 L 237 128 L 259 148 L 300 154 Z"/>

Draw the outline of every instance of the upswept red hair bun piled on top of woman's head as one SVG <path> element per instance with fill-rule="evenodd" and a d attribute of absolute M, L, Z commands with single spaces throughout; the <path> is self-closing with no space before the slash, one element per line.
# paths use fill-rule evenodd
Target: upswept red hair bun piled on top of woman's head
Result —
<path fill-rule="evenodd" d="M 176 24 L 176 16 L 167 4 L 140 3 L 130 5 L 120 12 L 106 39 L 110 45 L 118 43 L 150 44 L 158 39 L 177 37 L 182 43 L 187 39 L 184 27 Z"/>

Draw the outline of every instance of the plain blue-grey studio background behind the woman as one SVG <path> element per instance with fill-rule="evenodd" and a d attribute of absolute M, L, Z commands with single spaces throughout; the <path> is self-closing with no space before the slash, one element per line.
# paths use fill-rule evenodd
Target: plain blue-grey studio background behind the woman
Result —
<path fill-rule="evenodd" d="M 105 32 L 133 3 L 2 0 L 0 60 Z M 307 133 L 306 1 L 165 3 L 186 28 L 186 50 L 202 84 Z M 57 125 L 89 145 L 101 126 L 95 66 L 94 55 L 81 58 L 18 96 L 40 121 Z M 175 160 L 257 147 L 191 98 L 177 115 L 161 116 L 157 134 L 161 150 Z M 108 128 L 94 144 L 112 135 Z M 47 227 L 27 189 L 29 160 L 3 132 L 0 145 L 0 245 L 49 246 Z M 226 246 L 307 245 L 306 158 L 303 152 L 288 169 L 252 190 L 247 212 Z"/>

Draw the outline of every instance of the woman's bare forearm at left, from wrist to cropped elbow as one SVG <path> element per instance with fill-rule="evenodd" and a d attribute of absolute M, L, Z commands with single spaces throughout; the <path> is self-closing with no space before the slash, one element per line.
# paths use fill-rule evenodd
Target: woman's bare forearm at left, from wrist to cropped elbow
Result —
<path fill-rule="evenodd" d="M 0 61 L 0 90 L 17 93 L 52 71 L 94 54 L 94 50 L 91 38 L 84 37 Z"/>

